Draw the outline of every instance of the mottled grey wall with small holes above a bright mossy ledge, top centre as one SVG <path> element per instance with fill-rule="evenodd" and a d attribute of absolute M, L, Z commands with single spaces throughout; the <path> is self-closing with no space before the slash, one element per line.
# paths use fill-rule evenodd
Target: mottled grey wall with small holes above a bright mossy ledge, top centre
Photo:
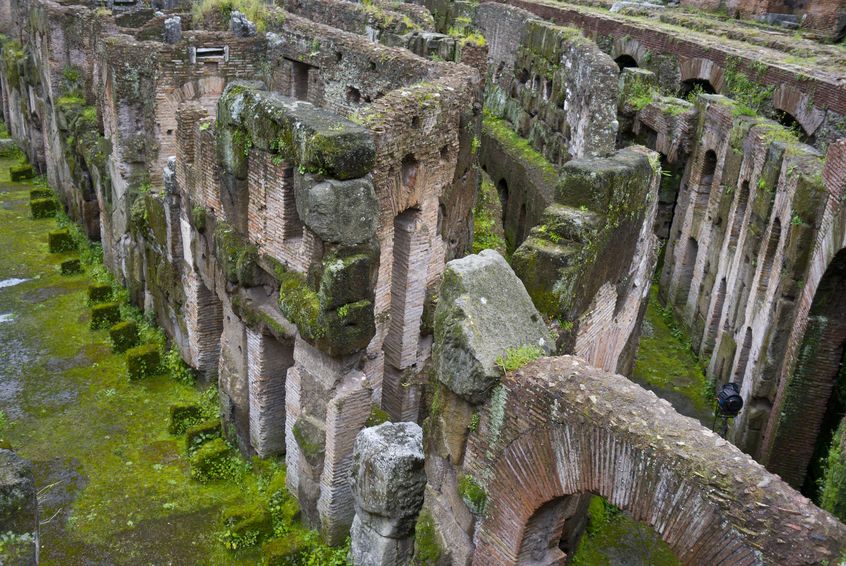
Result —
<path fill-rule="evenodd" d="M 515 249 L 554 201 L 558 166 L 614 151 L 617 69 L 578 30 L 524 10 L 484 4 L 475 21 L 489 47 L 479 163 Z"/>

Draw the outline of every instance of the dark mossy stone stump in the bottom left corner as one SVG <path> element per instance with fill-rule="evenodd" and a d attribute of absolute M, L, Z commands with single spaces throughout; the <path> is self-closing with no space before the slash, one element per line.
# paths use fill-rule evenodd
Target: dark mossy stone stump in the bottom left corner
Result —
<path fill-rule="evenodd" d="M 37 564 L 35 478 L 29 462 L 6 449 L 0 449 L 0 534 L 0 564 Z"/>

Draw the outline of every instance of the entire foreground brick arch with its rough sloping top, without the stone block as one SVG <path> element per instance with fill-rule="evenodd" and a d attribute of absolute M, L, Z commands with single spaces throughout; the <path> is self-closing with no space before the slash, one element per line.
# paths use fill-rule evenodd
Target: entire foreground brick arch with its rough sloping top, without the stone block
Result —
<path fill-rule="evenodd" d="M 585 493 L 651 525 L 685 564 L 816 564 L 846 538 L 831 515 L 625 377 L 562 356 L 502 387 L 468 438 L 464 471 L 487 494 L 475 565 L 519 564 L 523 541 L 544 537 L 554 554 L 566 523 L 536 515 Z M 527 532 L 538 525 L 547 532 Z"/>

